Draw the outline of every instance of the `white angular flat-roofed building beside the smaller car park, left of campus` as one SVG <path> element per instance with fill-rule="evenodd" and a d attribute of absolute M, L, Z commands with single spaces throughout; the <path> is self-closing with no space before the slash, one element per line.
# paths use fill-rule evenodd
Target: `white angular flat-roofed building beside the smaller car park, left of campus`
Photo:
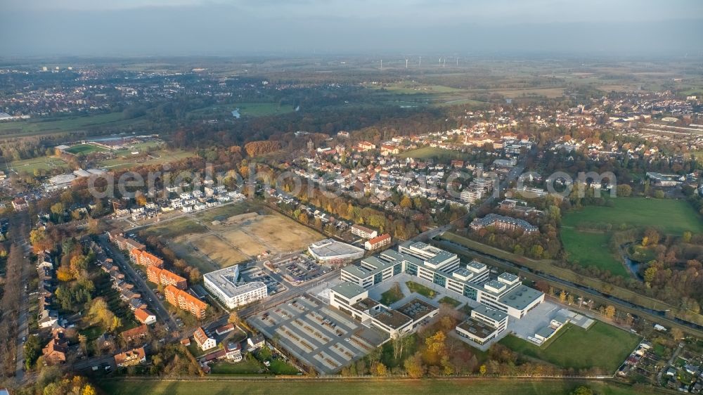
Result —
<path fill-rule="evenodd" d="M 205 288 L 220 299 L 229 309 L 250 304 L 269 296 L 266 284 L 261 281 L 239 282 L 239 266 L 229 266 L 203 276 Z"/>

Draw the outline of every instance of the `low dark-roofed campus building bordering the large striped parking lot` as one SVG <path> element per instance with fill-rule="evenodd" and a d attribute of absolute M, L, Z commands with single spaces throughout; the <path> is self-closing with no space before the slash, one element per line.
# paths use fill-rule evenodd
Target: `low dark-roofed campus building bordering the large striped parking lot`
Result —
<path fill-rule="evenodd" d="M 378 328 L 391 338 L 415 329 L 437 314 L 437 306 L 413 299 L 391 309 L 368 297 L 368 290 L 354 283 L 341 283 L 330 289 L 330 305 L 351 315 L 363 325 Z"/>

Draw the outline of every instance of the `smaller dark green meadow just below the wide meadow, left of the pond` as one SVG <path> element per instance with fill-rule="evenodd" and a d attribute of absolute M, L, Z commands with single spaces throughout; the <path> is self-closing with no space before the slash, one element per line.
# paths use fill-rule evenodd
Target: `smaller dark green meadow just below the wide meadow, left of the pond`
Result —
<path fill-rule="evenodd" d="M 624 264 L 615 259 L 610 251 L 610 237 L 608 232 L 576 231 L 573 228 L 561 230 L 562 245 L 569 254 L 569 261 L 578 261 L 581 266 L 596 266 L 617 276 L 627 277 L 629 273 Z"/>

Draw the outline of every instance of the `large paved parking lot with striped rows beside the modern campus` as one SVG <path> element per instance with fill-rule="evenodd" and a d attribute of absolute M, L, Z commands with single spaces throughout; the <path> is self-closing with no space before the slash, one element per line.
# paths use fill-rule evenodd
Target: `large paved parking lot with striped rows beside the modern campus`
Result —
<path fill-rule="evenodd" d="M 388 338 L 309 295 L 272 307 L 247 321 L 273 344 L 323 374 L 339 371 Z"/>

